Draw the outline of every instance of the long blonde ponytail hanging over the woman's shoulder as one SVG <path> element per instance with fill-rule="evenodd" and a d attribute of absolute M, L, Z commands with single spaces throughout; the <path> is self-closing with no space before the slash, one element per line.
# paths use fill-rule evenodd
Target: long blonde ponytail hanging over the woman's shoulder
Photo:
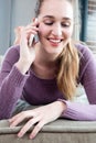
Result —
<path fill-rule="evenodd" d="M 57 86 L 64 94 L 65 99 L 72 99 L 76 91 L 78 70 L 79 70 L 79 56 L 78 51 L 70 42 L 58 57 L 60 68 L 57 72 Z"/>

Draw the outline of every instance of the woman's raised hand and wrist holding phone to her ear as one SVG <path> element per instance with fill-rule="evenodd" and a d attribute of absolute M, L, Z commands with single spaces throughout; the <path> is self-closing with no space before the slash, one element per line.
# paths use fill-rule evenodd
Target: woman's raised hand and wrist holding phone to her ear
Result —
<path fill-rule="evenodd" d="M 34 36 L 38 34 L 38 20 L 34 20 L 33 23 L 20 28 L 20 58 L 15 66 L 21 70 L 22 74 L 26 73 L 35 58 L 35 43 L 33 41 L 33 44 L 30 46 L 29 41 L 32 35 Z"/>

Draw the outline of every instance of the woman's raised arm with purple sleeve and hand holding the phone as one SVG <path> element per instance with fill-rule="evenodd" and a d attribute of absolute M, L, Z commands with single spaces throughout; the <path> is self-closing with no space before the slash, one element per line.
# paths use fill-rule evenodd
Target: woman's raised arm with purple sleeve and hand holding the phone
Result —
<path fill-rule="evenodd" d="M 29 46 L 31 34 L 38 33 L 39 22 L 22 26 L 20 32 L 20 50 L 11 48 L 2 64 L 0 73 L 0 119 L 9 118 L 17 100 L 21 97 L 23 86 L 29 76 L 31 64 L 35 58 L 34 42 Z"/>

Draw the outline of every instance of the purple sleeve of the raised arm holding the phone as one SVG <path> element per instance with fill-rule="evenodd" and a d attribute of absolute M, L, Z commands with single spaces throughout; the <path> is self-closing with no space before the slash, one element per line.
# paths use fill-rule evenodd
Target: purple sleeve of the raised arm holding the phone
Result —
<path fill-rule="evenodd" d="M 10 48 L 0 70 L 0 119 L 10 118 L 17 100 L 21 97 L 28 75 L 14 66 L 19 59 L 18 48 Z"/>

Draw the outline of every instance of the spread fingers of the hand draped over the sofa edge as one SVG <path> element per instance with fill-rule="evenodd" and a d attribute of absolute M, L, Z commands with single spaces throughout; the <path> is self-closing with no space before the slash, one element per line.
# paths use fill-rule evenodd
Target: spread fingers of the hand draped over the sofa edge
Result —
<path fill-rule="evenodd" d="M 30 119 L 31 118 L 31 119 Z M 17 116 L 14 116 L 12 119 L 9 120 L 9 122 L 11 123 L 10 127 L 15 127 L 19 123 L 21 123 L 24 119 L 29 119 L 29 121 L 25 123 L 25 125 L 20 130 L 20 132 L 18 133 L 19 138 L 22 138 L 28 131 L 29 129 L 34 125 L 35 123 L 38 123 L 32 133 L 30 134 L 30 139 L 35 138 L 35 135 L 39 133 L 39 131 L 42 129 L 42 127 L 44 125 L 44 122 L 41 118 L 40 114 L 34 114 L 32 116 L 31 112 L 28 111 L 23 111 Z"/>

